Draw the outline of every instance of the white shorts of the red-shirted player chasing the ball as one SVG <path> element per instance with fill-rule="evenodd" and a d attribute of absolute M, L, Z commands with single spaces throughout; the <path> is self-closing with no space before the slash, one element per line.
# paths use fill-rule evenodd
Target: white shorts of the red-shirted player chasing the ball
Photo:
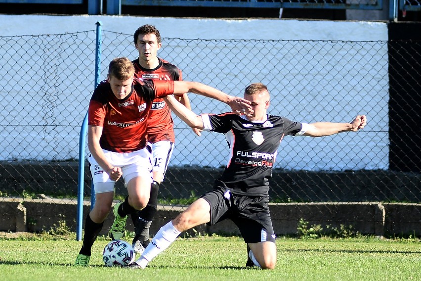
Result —
<path fill-rule="evenodd" d="M 126 186 L 131 179 L 136 177 L 150 177 L 152 183 L 152 154 L 149 152 L 150 147 L 127 153 L 112 152 L 104 149 L 102 151 L 111 165 L 122 168 Z M 114 191 L 114 184 L 116 182 L 110 179 L 92 155 L 89 155 L 88 160 L 95 193 Z"/>

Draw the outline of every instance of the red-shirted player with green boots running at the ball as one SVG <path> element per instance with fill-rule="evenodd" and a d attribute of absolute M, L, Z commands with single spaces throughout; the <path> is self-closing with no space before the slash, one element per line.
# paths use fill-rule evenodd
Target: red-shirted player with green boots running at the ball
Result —
<path fill-rule="evenodd" d="M 113 239 L 123 237 L 127 215 L 142 210 L 149 201 L 152 163 L 147 120 L 155 98 L 191 92 L 226 102 L 236 111 L 252 112 L 249 101 L 201 83 L 141 80 L 133 75 L 134 66 L 128 58 L 113 59 L 107 80 L 98 85 L 89 102 L 88 160 L 96 201 L 86 216 L 83 245 L 75 265 L 89 263 L 91 247 L 112 207 L 116 181 L 123 177 L 128 196 L 114 205 Z"/>

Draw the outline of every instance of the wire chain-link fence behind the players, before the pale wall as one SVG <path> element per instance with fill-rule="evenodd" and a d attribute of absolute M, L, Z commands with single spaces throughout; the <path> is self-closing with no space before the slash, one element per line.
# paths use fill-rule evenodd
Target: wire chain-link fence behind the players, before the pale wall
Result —
<path fill-rule="evenodd" d="M 0 37 L 0 45 L 0 205 L 75 203 L 79 133 L 94 89 L 95 31 Z M 311 208 L 309 221 L 317 221 L 323 202 L 337 208 L 398 203 L 412 206 L 413 216 L 403 220 L 411 227 L 421 221 L 421 71 L 408 69 L 420 70 L 420 49 L 419 41 L 163 38 L 159 56 L 182 69 L 184 80 L 228 94 L 241 96 L 247 85 L 262 82 L 271 92 L 269 113 L 295 121 L 348 122 L 367 114 L 368 126 L 358 133 L 286 137 L 271 201 Z M 137 55 L 132 35 L 103 31 L 100 79 L 114 57 Z M 189 98 L 196 113 L 229 110 L 202 96 Z M 159 196 L 180 206 L 211 188 L 229 149 L 221 134 L 196 137 L 176 117 L 174 127 L 176 146 Z M 89 198 L 87 173 L 84 191 Z M 124 194 L 119 182 L 116 195 Z M 14 216 L 12 208 L 1 207 L 3 216 Z M 27 218 L 31 223 L 42 225 Z"/>

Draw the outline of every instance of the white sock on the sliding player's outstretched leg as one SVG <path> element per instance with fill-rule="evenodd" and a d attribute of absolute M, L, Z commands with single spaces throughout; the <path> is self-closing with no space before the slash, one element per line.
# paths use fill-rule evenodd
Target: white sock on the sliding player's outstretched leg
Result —
<path fill-rule="evenodd" d="M 137 259 L 136 263 L 145 268 L 152 259 L 166 250 L 180 233 L 174 228 L 172 222 L 163 226 L 146 247 L 140 258 Z"/>

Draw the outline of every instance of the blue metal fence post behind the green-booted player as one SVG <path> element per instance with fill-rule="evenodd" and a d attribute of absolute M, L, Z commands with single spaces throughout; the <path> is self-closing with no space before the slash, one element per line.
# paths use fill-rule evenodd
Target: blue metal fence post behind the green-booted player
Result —
<path fill-rule="evenodd" d="M 100 21 L 96 22 L 96 41 L 95 41 L 95 88 L 99 84 L 99 75 L 101 71 L 101 25 Z M 79 136 L 79 172 L 78 172 L 78 208 L 76 217 L 76 240 L 82 240 L 82 225 L 84 214 L 84 170 L 85 170 L 85 143 L 87 130 L 87 112 L 81 126 Z M 90 207 L 95 204 L 95 189 L 91 183 Z"/>

